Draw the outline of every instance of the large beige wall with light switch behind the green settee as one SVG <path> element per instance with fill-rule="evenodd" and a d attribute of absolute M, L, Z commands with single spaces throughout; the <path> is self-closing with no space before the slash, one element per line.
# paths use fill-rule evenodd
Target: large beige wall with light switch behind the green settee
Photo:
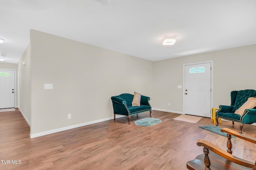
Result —
<path fill-rule="evenodd" d="M 30 42 L 32 135 L 113 117 L 111 96 L 152 96 L 151 61 L 36 30 Z"/>

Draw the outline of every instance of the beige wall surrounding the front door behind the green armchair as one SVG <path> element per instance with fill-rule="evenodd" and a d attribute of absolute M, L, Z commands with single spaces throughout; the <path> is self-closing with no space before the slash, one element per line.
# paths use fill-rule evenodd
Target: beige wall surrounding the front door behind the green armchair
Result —
<path fill-rule="evenodd" d="M 248 45 L 154 62 L 154 108 L 183 112 L 183 65 L 204 61 L 213 61 L 213 107 L 230 105 L 232 90 L 256 89 L 255 54 Z"/>

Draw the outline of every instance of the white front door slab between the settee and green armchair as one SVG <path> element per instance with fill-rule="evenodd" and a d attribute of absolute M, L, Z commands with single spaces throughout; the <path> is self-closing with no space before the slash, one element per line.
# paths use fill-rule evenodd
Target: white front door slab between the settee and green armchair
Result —
<path fill-rule="evenodd" d="M 185 65 L 185 114 L 211 117 L 211 63 Z"/>

